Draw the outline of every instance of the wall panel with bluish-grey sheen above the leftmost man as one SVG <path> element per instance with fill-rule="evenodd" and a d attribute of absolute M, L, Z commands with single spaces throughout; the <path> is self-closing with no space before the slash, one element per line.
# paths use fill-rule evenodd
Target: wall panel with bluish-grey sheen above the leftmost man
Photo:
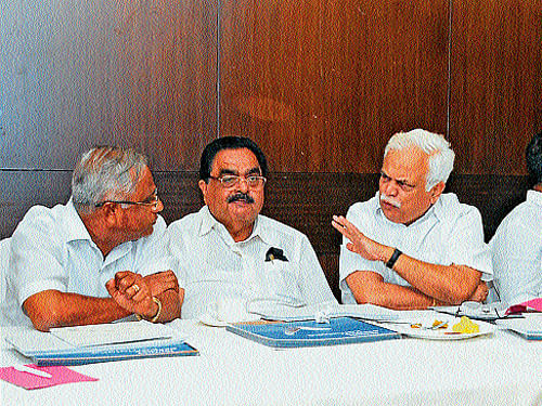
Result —
<path fill-rule="evenodd" d="M 217 133 L 217 1 L 1 8 L 0 168 L 72 169 L 95 144 L 197 168 Z"/>

